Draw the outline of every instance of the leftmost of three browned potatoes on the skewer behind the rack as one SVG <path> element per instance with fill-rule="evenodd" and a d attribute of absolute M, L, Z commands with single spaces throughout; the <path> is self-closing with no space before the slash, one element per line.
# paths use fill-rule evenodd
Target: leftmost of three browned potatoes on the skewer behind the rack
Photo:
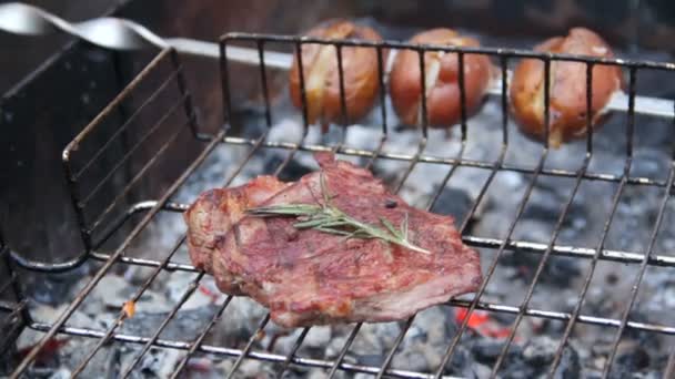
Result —
<path fill-rule="evenodd" d="M 313 28 L 305 35 L 333 39 L 361 39 L 381 41 L 382 37 L 373 29 L 356 25 L 344 20 L 330 20 Z M 302 45 L 303 78 L 306 88 L 308 73 L 319 57 L 321 44 Z M 332 49 L 332 48 L 331 48 Z M 385 58 L 386 51 L 383 52 Z M 338 54 L 329 62 L 328 73 L 324 78 L 323 104 L 313 103 L 308 96 L 308 121 L 310 124 L 321 122 L 324 130 L 331 122 L 342 121 L 342 104 L 340 102 L 340 71 Z M 377 52 L 374 48 L 342 48 L 342 69 L 344 81 L 344 95 L 346 114 L 350 122 L 365 116 L 373 107 L 380 90 Z M 302 109 L 302 93 L 300 88 L 300 65 L 294 55 L 290 72 L 291 101 L 298 109 Z"/>

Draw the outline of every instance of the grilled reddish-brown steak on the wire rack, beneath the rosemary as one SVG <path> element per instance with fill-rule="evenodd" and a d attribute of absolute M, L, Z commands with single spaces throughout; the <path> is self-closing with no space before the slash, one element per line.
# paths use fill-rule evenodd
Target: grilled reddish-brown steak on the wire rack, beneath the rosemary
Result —
<path fill-rule="evenodd" d="M 219 288 L 268 306 L 272 319 L 296 327 L 391 321 L 474 291 L 481 283 L 476 252 L 462 244 L 453 219 L 415 209 L 381 181 L 332 154 L 315 155 L 321 170 L 283 184 L 262 176 L 204 193 L 185 213 L 195 266 Z M 245 209 L 288 204 L 331 206 L 369 225 L 402 225 L 423 254 L 380 238 L 347 238 L 299 229 L 295 217 L 258 217 Z"/>

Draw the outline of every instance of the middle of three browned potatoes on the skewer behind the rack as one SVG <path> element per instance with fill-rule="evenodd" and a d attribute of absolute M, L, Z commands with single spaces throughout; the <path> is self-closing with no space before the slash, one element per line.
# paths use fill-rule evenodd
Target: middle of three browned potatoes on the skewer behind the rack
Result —
<path fill-rule="evenodd" d="M 480 45 L 475 39 L 461 37 L 451 29 L 424 31 L 414 35 L 410 42 L 461 47 Z M 434 55 L 434 52 L 425 53 L 425 65 L 429 66 Z M 460 121 L 462 114 L 459 75 L 457 54 L 444 54 L 441 58 L 439 78 L 434 86 L 431 90 L 427 89 L 426 115 L 429 126 L 450 127 Z M 412 50 L 399 51 L 390 74 L 390 94 L 396 114 L 409 125 L 419 125 L 421 123 L 421 120 L 417 120 L 422 101 L 420 76 L 420 58 L 417 52 Z M 490 84 L 490 79 L 491 63 L 486 55 L 464 55 L 464 88 L 467 115 L 474 113 L 478 105 L 481 105 Z"/>

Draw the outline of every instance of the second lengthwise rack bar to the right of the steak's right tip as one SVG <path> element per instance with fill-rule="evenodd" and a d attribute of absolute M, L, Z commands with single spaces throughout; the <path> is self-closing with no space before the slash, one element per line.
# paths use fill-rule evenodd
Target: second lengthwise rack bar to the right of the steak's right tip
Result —
<path fill-rule="evenodd" d="M 576 193 L 578 192 L 578 188 L 582 184 L 583 172 L 586 171 L 590 162 L 591 162 L 591 155 L 588 154 L 588 155 L 586 155 L 586 158 L 584 160 L 582 168 L 580 170 L 580 175 L 577 176 L 577 178 L 574 183 L 574 187 L 572 188 L 570 198 L 565 203 L 563 211 L 561 212 L 561 215 L 558 216 L 557 222 L 553 228 L 553 234 L 551 235 L 551 240 L 548 242 L 546 252 L 544 252 L 542 258 L 540 259 L 540 263 L 534 273 L 534 277 L 532 278 L 532 284 L 527 288 L 525 298 L 523 299 L 523 303 L 521 304 L 521 307 L 520 307 L 521 310 L 516 315 L 516 318 L 513 321 L 513 326 L 511 328 L 511 332 L 508 334 L 508 337 L 506 338 L 506 344 L 504 344 L 504 347 L 502 348 L 502 352 L 497 357 L 497 360 L 494 363 L 494 367 L 492 368 L 493 377 L 496 377 L 502 363 L 504 362 L 504 359 L 506 358 L 506 354 L 508 352 L 508 348 L 511 347 L 511 344 L 513 342 L 513 339 L 518 329 L 518 326 L 521 325 L 521 321 L 525 317 L 525 309 L 527 309 L 527 306 L 530 305 L 530 300 L 532 300 L 532 295 L 534 295 L 534 288 L 536 287 L 536 284 L 538 283 L 540 277 L 542 276 L 542 273 L 544 273 L 544 267 L 546 266 L 546 263 L 548 262 L 548 258 L 551 257 L 551 252 L 553 249 L 553 245 L 555 244 L 561 231 L 563 229 L 563 223 L 565 222 L 565 218 L 567 217 L 570 207 L 572 206 L 572 203 L 574 202 L 574 197 L 576 196 Z"/>

